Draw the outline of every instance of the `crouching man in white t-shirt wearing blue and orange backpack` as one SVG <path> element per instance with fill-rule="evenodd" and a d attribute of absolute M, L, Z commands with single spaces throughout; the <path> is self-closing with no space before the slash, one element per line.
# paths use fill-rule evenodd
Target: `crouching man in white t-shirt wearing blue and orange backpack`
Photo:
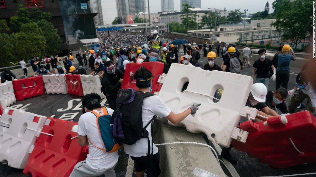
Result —
<path fill-rule="evenodd" d="M 74 170 L 70 174 L 71 177 L 83 176 L 116 176 L 114 167 L 119 160 L 118 151 L 105 152 L 97 147 L 105 149 L 103 140 L 100 136 L 99 129 L 96 123 L 96 117 L 89 111 L 94 111 L 103 115 L 100 103 L 100 95 L 90 93 L 82 98 L 83 110 L 78 121 L 78 142 L 81 147 L 89 145 L 89 154 L 86 160 L 76 164 Z M 112 115 L 113 110 L 106 108 L 108 114 Z M 93 144 L 88 142 L 88 138 Z"/>

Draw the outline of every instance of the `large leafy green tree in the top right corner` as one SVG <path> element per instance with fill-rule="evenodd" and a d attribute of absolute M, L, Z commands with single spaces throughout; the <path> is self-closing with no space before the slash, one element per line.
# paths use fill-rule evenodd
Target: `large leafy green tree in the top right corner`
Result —
<path fill-rule="evenodd" d="M 271 25 L 278 32 L 283 32 L 283 41 L 290 40 L 297 45 L 306 37 L 310 37 L 313 28 L 313 2 L 305 0 L 283 0 L 278 2 L 276 21 Z"/>

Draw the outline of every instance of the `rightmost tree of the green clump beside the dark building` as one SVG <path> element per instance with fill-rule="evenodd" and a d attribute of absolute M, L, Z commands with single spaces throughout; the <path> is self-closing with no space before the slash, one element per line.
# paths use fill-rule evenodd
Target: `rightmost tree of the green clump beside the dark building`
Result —
<path fill-rule="evenodd" d="M 43 54 L 50 56 L 60 53 L 59 48 L 62 41 L 58 35 L 58 30 L 54 28 L 52 23 L 46 20 L 41 20 L 37 24 L 42 30 L 42 34 L 46 39 L 45 50 L 43 51 Z"/>

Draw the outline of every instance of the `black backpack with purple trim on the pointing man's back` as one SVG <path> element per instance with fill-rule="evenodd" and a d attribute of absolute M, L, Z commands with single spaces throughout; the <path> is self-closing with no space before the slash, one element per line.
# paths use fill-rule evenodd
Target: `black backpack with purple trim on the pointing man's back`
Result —
<path fill-rule="evenodd" d="M 135 91 L 132 88 L 120 89 L 116 99 L 116 110 L 112 114 L 111 121 L 111 124 L 113 124 L 112 134 L 120 143 L 132 145 L 141 138 L 148 138 L 149 154 L 151 152 L 149 132 L 146 128 L 157 116 L 155 115 L 143 128 L 142 107 L 143 98 L 151 96 L 154 96 L 154 94 Z M 151 126 L 153 125 L 151 124 Z M 151 130 L 153 134 L 153 127 L 151 127 Z"/>

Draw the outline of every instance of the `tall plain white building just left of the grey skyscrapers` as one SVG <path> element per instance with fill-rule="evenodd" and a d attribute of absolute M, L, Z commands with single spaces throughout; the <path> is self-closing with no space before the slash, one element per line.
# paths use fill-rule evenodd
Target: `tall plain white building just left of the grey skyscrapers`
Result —
<path fill-rule="evenodd" d="M 97 0 L 100 25 L 112 24 L 115 17 L 118 16 L 116 9 L 116 0 Z"/>

